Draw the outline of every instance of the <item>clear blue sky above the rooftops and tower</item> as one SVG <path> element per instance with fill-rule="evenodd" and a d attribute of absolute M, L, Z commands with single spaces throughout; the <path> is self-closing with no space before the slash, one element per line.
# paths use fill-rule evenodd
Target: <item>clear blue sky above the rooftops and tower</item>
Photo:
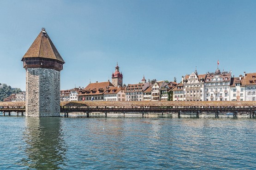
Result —
<path fill-rule="evenodd" d="M 20 61 L 42 27 L 65 60 L 61 89 L 256 72 L 256 0 L 1 0 L 0 83 L 25 90 Z"/>

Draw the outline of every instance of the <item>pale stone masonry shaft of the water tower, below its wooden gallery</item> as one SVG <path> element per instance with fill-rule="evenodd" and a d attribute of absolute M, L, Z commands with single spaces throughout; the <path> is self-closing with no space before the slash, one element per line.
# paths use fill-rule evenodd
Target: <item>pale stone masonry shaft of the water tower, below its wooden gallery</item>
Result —
<path fill-rule="evenodd" d="M 26 116 L 60 116 L 60 71 L 27 68 Z"/>

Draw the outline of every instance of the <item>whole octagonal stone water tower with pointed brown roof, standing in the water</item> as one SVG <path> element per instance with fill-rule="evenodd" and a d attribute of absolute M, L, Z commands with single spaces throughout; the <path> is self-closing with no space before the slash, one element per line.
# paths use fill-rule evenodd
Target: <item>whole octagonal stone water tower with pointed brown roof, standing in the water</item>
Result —
<path fill-rule="evenodd" d="M 45 28 L 25 53 L 26 116 L 60 116 L 60 71 L 65 63 Z"/>

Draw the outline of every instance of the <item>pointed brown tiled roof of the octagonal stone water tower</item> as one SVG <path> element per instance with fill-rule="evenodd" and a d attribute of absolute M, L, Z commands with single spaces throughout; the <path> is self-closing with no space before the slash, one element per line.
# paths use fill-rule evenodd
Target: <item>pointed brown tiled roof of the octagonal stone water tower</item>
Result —
<path fill-rule="evenodd" d="M 36 37 L 36 40 L 30 46 L 29 50 L 23 56 L 23 58 L 28 57 L 49 58 L 65 63 L 45 29 L 42 29 Z"/>

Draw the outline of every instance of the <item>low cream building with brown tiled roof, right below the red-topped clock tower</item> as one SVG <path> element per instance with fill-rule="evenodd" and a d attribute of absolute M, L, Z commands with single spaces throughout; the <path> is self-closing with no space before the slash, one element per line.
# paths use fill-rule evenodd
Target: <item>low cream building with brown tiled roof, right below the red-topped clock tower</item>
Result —
<path fill-rule="evenodd" d="M 103 95 L 104 101 L 125 101 L 125 88 L 108 87 Z"/>

